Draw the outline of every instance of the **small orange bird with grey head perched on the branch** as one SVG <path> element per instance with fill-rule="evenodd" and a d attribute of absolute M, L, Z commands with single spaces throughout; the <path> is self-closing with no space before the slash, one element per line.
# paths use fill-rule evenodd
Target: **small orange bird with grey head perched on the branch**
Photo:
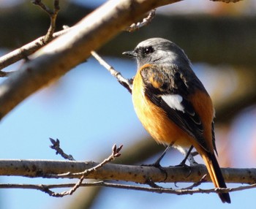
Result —
<path fill-rule="evenodd" d="M 214 186 L 227 188 L 214 154 L 214 106 L 184 50 L 167 39 L 151 38 L 123 54 L 137 59 L 132 102 L 148 133 L 181 151 L 194 147 Z M 218 194 L 230 203 L 228 193 Z"/>

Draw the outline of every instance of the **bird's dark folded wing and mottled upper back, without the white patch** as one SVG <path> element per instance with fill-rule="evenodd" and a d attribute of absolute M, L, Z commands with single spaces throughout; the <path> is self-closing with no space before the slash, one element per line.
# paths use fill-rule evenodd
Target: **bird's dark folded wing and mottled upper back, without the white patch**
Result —
<path fill-rule="evenodd" d="M 180 129 L 191 137 L 194 137 L 203 148 L 208 150 L 206 142 L 203 139 L 203 124 L 199 115 L 195 113 L 193 105 L 187 99 L 188 95 L 191 94 L 187 82 L 180 72 L 178 72 L 176 66 L 168 67 L 173 67 L 171 71 L 167 69 L 168 73 L 165 71 L 164 67 L 159 70 L 157 67 L 154 67 L 154 65 L 145 67 L 140 71 L 145 87 L 145 94 L 151 102 L 161 107 L 162 110 L 165 110 L 168 118 L 176 123 Z M 184 107 L 184 111 L 170 107 L 164 99 L 162 99 L 162 96 L 167 94 L 178 94 L 182 96 L 183 100 L 181 104 Z"/>

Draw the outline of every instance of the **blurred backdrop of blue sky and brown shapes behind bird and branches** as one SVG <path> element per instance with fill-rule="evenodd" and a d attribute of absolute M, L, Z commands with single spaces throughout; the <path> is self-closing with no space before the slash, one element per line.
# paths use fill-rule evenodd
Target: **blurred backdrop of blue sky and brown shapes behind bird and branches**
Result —
<path fill-rule="evenodd" d="M 52 7 L 53 1 L 43 1 Z M 61 1 L 58 30 L 73 26 L 105 1 Z M 121 55 L 138 42 L 163 37 L 176 42 L 191 59 L 217 110 L 216 139 L 221 167 L 256 167 L 256 1 L 225 4 L 187 0 L 157 9 L 150 25 L 121 32 L 99 50 L 124 77 L 136 72 L 134 60 Z M 0 0 L 0 56 L 48 31 L 48 15 L 31 1 Z M 22 61 L 4 71 L 19 69 Z M 0 82 L 6 78 L 1 77 Z M 1 107 L 0 107 L 1 108 Z M 146 133 L 132 107 L 131 95 L 94 58 L 76 66 L 12 110 L 0 123 L 1 159 L 61 159 L 49 137 L 77 160 L 101 161 L 113 144 L 124 145 L 120 164 L 151 163 L 164 150 Z M 171 150 L 163 166 L 183 156 Z M 202 162 L 200 157 L 196 158 Z M 61 183 L 0 177 L 0 183 Z M 163 186 L 175 187 L 174 184 Z M 178 188 L 188 184 L 177 183 Z M 229 183 L 227 186 L 238 186 Z M 202 188 L 212 188 L 204 183 Z M 217 194 L 151 194 L 121 189 L 78 189 L 71 197 L 49 197 L 41 191 L 1 189 L 0 208 L 249 208 L 255 189 L 232 192 L 231 205 Z M 211 206 L 210 206 L 211 205 Z"/>

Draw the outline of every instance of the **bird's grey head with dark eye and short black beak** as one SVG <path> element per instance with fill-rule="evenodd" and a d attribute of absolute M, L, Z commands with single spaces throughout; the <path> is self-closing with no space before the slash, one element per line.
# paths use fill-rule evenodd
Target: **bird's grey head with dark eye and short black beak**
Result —
<path fill-rule="evenodd" d="M 189 67 L 190 61 L 184 51 L 173 42 L 162 38 L 151 38 L 140 42 L 135 50 L 124 52 L 124 55 L 135 57 L 138 68 L 144 64 L 176 64 Z"/>

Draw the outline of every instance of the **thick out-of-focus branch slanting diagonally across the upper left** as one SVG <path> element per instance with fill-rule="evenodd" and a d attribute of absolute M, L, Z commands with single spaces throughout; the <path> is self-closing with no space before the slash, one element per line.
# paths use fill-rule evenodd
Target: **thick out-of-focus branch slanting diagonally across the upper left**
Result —
<path fill-rule="evenodd" d="M 0 118 L 39 88 L 58 79 L 90 56 L 135 18 L 178 0 L 108 1 L 77 24 L 75 30 L 42 47 L 0 86 Z M 108 12 L 106 12 L 108 11 Z"/>

